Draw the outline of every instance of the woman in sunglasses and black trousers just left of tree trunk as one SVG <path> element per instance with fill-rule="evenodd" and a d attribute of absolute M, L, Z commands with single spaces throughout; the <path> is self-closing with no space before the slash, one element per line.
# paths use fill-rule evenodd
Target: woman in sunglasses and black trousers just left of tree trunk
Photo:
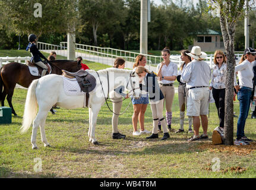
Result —
<path fill-rule="evenodd" d="M 213 73 L 209 89 L 213 92 L 213 99 L 219 116 L 219 131 L 223 133 L 225 118 L 225 91 L 226 91 L 226 56 L 222 50 L 216 50 L 213 57 Z"/>

